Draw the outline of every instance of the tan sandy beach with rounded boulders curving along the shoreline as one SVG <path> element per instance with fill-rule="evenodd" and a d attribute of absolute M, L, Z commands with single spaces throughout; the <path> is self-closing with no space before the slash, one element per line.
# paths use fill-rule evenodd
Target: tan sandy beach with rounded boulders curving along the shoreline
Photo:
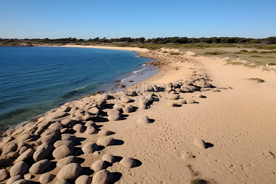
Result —
<path fill-rule="evenodd" d="M 105 167 L 99 167 L 112 173 L 110 183 L 190 184 L 197 179 L 210 184 L 276 183 L 275 70 L 229 65 L 227 58 L 194 56 L 191 52 L 173 56 L 162 53 L 164 49 L 144 52 L 137 48 L 103 48 L 138 51 L 142 57 L 156 59 L 151 64 L 158 66 L 160 72 L 133 86 L 138 96 L 130 96 L 133 88 L 129 87 L 129 95 L 112 94 L 115 99 L 109 99 L 107 94 L 82 98 L 49 112 L 38 122 L 9 130 L 0 143 L 2 168 L 10 171 L 19 154 L 28 148 L 37 150 L 42 143 L 53 145 L 61 139 L 61 133 L 63 140 L 74 141 L 74 137 L 66 136 L 73 133 L 77 137 L 75 150 L 68 151 L 67 155 L 80 158 L 78 163 L 83 172 L 80 174 L 78 169 L 70 168 L 75 171 L 71 183 L 80 175 L 87 175 L 93 177 L 93 184 L 100 184 L 98 179 L 103 172 L 97 172 L 95 165 L 92 169 L 90 166 L 102 160 L 105 154 L 116 156 L 114 163 L 106 162 Z M 265 82 L 257 83 L 249 78 Z M 144 86 L 153 84 L 165 84 L 166 91 L 159 88 L 159 92 L 144 92 L 148 89 Z M 156 90 L 158 88 L 154 88 Z M 125 107 L 119 113 L 116 109 L 121 110 L 120 104 L 131 105 L 134 111 Z M 72 130 L 76 122 L 69 122 L 70 119 L 80 121 L 77 124 L 83 126 L 74 126 Z M 84 126 L 88 120 L 97 124 L 97 130 L 87 124 Z M 87 134 L 88 130 L 91 134 Z M 114 133 L 105 135 L 106 130 Z M 89 153 L 89 149 L 84 148 L 91 142 L 102 146 L 94 151 L 90 149 L 93 153 Z M 72 148 L 63 147 L 58 150 L 60 154 L 67 147 Z M 52 165 L 42 174 L 32 174 L 34 178 L 28 180 L 38 182 L 41 176 L 45 177 L 44 173 L 55 175 L 51 183 L 66 178 L 61 168 L 55 167 L 65 155 L 54 151 L 53 157 L 53 149 L 45 150 L 49 153 L 40 150 L 44 155 L 42 159 L 49 159 Z M 37 158 L 32 154 L 24 160 L 28 167 L 35 163 L 34 157 Z M 34 153 L 37 154 L 38 151 Z M 128 157 L 134 160 L 126 159 Z M 17 168 L 11 170 L 15 173 L 13 176 L 18 174 Z M 19 174 L 27 178 L 28 172 L 26 169 Z M 102 176 L 108 180 L 110 173 Z M 9 178 L 7 175 L 0 184 Z"/>

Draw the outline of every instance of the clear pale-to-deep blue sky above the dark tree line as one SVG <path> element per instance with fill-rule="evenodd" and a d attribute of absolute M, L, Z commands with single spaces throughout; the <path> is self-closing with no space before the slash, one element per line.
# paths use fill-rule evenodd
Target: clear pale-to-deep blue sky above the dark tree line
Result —
<path fill-rule="evenodd" d="M 0 0 L 0 38 L 275 35 L 276 0 Z"/>

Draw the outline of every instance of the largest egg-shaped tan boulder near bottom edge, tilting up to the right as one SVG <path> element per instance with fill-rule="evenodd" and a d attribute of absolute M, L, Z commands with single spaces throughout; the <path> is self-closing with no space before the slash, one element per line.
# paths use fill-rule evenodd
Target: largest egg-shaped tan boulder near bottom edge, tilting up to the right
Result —
<path fill-rule="evenodd" d="M 74 180 L 83 172 L 81 165 L 77 163 L 69 163 L 62 167 L 62 169 L 57 174 L 59 180 Z"/>

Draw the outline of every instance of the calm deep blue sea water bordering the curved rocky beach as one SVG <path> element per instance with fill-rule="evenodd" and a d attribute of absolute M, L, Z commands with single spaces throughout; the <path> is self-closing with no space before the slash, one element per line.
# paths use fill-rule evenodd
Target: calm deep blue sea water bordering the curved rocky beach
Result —
<path fill-rule="evenodd" d="M 0 47 L 0 129 L 85 94 L 108 90 L 148 61 L 130 51 Z"/>

